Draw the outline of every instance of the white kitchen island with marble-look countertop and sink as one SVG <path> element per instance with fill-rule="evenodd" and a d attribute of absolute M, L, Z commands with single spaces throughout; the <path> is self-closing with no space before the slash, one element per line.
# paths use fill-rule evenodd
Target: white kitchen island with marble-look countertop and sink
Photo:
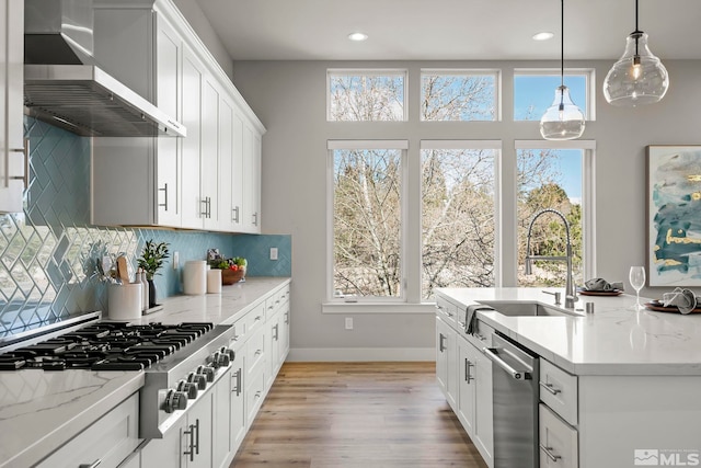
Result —
<path fill-rule="evenodd" d="M 464 332 L 467 308 L 479 304 L 496 310 L 501 305 L 553 306 L 553 296 L 536 288 L 444 288 L 437 290 L 437 298 L 438 305 L 447 305 L 437 311 L 437 339 L 441 342 L 437 359 L 443 358 L 444 350 L 450 353 L 451 338 L 457 342 L 456 355 L 444 358 L 446 372 L 455 375 L 444 380 L 438 376 L 439 385 L 468 433 L 481 437 L 483 444 L 475 445 L 483 447 L 480 452 L 487 465 L 494 466 L 496 447 L 492 442 L 498 435 L 492 434 L 491 422 L 476 426 L 480 420 L 467 418 L 461 402 L 467 395 L 463 387 L 480 376 L 479 354 L 492 346 L 489 340 L 480 343 Z M 585 303 L 594 304 L 594 313 L 585 312 Z M 484 333 L 482 329 L 494 330 L 539 356 L 535 378 L 540 389 L 536 436 L 540 442 L 536 450 L 541 467 L 632 467 L 647 457 L 648 461 L 656 457 L 657 465 L 699 465 L 701 313 L 635 311 L 634 305 L 635 297 L 629 295 L 579 296 L 575 309 L 565 310 L 570 315 L 475 312 L 476 335 Z M 452 329 L 446 328 L 451 318 Z M 468 352 L 464 365 L 459 354 L 463 341 L 472 343 L 478 354 L 470 357 L 474 354 Z M 486 393 L 492 389 L 481 395 Z M 479 414 L 480 407 L 492 406 L 492 401 L 470 404 Z"/>

